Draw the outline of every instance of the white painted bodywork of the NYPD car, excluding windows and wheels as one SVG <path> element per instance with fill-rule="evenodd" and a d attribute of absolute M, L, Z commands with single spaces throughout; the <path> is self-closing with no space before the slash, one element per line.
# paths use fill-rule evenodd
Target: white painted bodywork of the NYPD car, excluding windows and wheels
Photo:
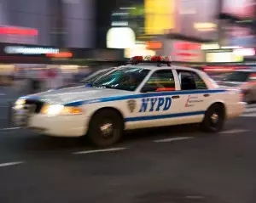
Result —
<path fill-rule="evenodd" d="M 200 123 L 204 119 L 206 110 L 215 103 L 224 104 L 225 117 L 227 119 L 240 116 L 244 111 L 245 104 L 241 102 L 239 91 L 218 87 L 201 70 L 173 65 L 172 67 L 156 67 L 155 65 L 138 66 L 148 69 L 149 73 L 134 92 L 80 86 L 51 90 L 20 98 L 38 100 L 48 104 L 79 106 L 83 108 L 84 112 L 79 115 L 55 116 L 32 112 L 26 127 L 50 136 L 80 137 L 88 132 L 91 117 L 96 111 L 102 110 L 103 108 L 119 111 L 119 114 L 124 119 L 125 130 Z M 125 67 L 129 67 L 129 65 L 125 65 Z M 141 92 L 143 85 L 148 81 L 148 78 L 154 71 L 166 69 L 172 70 L 176 91 L 159 93 Z M 177 76 L 177 69 L 194 71 L 201 76 L 201 79 L 207 84 L 208 89 L 182 91 Z M 177 95 L 179 98 L 175 99 Z M 148 103 L 146 103 L 147 99 Z M 132 109 L 129 105 L 131 101 L 133 102 Z M 15 118 L 23 114 L 22 110 L 15 110 L 15 112 Z"/>

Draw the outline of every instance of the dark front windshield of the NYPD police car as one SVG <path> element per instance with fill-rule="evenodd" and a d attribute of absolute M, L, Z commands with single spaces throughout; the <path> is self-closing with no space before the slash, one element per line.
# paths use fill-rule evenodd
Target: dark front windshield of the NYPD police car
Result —
<path fill-rule="evenodd" d="M 94 82 L 93 87 L 135 91 L 148 72 L 149 70 L 143 68 L 124 67 L 102 76 Z"/>

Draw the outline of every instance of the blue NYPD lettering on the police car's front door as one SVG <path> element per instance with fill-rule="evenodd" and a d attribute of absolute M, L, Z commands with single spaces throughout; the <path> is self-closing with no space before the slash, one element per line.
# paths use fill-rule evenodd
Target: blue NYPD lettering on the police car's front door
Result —
<path fill-rule="evenodd" d="M 142 104 L 139 110 L 140 113 L 153 112 L 153 111 L 166 111 L 171 108 L 172 99 L 171 97 L 143 98 L 141 102 Z"/>

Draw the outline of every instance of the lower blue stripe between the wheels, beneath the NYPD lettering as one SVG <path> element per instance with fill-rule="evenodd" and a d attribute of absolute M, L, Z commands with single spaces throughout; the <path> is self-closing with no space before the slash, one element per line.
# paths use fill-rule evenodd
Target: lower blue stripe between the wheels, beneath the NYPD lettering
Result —
<path fill-rule="evenodd" d="M 158 116 L 137 116 L 137 117 L 125 118 L 125 122 L 148 121 L 148 120 L 176 118 L 176 117 L 183 117 L 183 116 L 198 116 L 198 115 L 204 115 L 204 114 L 205 114 L 205 111 L 193 111 L 193 112 L 178 113 L 178 114 L 166 114 L 166 115 L 158 115 Z"/>

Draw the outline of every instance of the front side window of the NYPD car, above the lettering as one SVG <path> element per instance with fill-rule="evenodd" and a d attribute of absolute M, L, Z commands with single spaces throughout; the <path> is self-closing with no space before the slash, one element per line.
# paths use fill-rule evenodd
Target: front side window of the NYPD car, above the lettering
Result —
<path fill-rule="evenodd" d="M 175 81 L 172 70 L 156 70 L 149 77 L 142 92 L 164 92 L 175 91 Z"/>

